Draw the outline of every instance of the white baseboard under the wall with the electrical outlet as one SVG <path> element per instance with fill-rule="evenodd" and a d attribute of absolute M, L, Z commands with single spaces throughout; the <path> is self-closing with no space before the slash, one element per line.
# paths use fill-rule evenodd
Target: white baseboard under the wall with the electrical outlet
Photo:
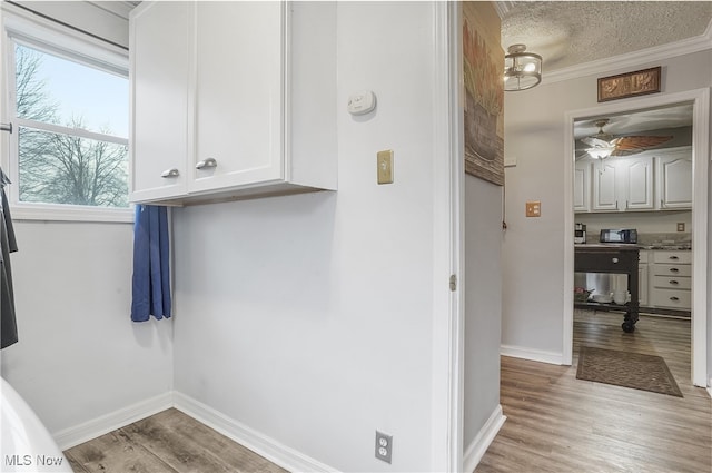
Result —
<path fill-rule="evenodd" d="M 174 393 L 174 406 L 287 471 L 295 473 L 337 471 L 182 393 Z"/>

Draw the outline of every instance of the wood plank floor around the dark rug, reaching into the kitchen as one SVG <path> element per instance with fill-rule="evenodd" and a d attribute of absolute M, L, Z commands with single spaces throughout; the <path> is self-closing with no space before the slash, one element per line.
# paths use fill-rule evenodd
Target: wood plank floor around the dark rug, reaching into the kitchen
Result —
<path fill-rule="evenodd" d="M 576 311 L 574 361 L 502 357 L 507 421 L 476 473 L 712 472 L 712 400 L 690 377 L 690 321 Z M 684 397 L 576 380 L 581 345 L 662 356 Z"/>

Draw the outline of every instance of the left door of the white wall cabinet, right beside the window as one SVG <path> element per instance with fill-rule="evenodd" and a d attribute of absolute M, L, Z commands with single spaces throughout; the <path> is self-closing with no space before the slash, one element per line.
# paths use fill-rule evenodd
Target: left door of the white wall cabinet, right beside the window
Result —
<path fill-rule="evenodd" d="M 131 201 L 186 194 L 188 3 L 155 2 L 130 18 Z"/>

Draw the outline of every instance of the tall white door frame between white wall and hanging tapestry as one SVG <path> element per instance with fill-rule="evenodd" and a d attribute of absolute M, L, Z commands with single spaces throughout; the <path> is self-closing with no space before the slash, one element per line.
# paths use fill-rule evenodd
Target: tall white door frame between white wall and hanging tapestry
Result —
<path fill-rule="evenodd" d="M 433 3 L 432 471 L 461 472 L 464 432 L 464 161 L 459 114 L 459 4 Z M 455 276 L 456 288 L 451 288 Z"/>

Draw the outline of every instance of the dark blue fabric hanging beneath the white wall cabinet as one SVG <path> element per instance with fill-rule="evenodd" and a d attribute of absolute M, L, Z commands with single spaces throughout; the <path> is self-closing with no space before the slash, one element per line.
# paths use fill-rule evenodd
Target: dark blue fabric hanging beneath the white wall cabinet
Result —
<path fill-rule="evenodd" d="M 134 224 L 131 321 L 170 317 L 170 243 L 168 209 L 137 205 Z"/>

